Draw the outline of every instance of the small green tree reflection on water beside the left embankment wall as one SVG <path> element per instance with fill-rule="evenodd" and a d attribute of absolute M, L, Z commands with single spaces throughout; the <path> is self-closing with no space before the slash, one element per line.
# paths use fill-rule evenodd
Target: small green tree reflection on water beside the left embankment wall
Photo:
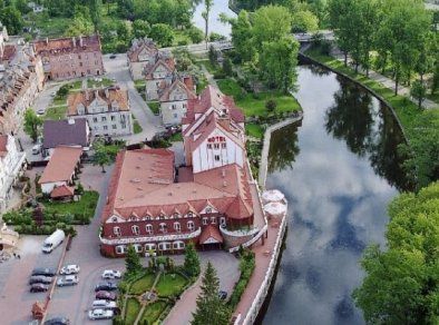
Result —
<path fill-rule="evenodd" d="M 269 173 L 292 167 L 299 155 L 297 129 L 302 122 L 295 122 L 272 134 L 269 152 Z"/>

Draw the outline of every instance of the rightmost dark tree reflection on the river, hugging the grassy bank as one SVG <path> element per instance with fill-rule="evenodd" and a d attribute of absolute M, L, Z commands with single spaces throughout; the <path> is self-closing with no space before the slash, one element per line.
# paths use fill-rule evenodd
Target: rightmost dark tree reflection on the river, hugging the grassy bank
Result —
<path fill-rule="evenodd" d="M 399 125 L 384 105 L 381 105 L 379 116 L 375 140 L 369 148 L 371 166 L 398 190 L 412 190 L 414 183 L 409 179 L 402 167 L 406 157 L 398 150 L 398 145 L 403 142 Z"/>

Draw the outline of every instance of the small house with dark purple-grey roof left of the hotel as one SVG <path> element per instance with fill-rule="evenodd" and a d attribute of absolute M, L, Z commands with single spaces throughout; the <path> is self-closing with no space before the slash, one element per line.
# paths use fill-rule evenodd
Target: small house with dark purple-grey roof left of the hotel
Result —
<path fill-rule="evenodd" d="M 88 150 L 90 128 L 86 118 L 46 120 L 42 130 L 42 155 L 50 157 L 59 146 L 77 147 Z"/>

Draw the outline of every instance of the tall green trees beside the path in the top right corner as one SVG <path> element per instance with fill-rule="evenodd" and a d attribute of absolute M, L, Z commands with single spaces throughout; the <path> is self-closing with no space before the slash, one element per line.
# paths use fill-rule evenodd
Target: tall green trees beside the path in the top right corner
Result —
<path fill-rule="evenodd" d="M 438 65 L 431 46 L 438 39 L 430 31 L 432 17 L 422 1 L 330 0 L 329 20 L 345 65 L 350 56 L 355 70 L 362 66 L 368 73 L 375 52 L 375 66 L 383 72 L 391 70 L 396 95 L 401 81 L 410 85 L 418 73 L 423 83 L 422 77 Z"/>

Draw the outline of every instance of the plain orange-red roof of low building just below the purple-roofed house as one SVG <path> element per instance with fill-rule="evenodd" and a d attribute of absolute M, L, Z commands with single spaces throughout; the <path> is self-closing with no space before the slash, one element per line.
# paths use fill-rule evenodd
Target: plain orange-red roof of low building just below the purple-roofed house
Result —
<path fill-rule="evenodd" d="M 69 181 L 82 155 L 82 148 L 56 147 L 38 184 Z"/>

